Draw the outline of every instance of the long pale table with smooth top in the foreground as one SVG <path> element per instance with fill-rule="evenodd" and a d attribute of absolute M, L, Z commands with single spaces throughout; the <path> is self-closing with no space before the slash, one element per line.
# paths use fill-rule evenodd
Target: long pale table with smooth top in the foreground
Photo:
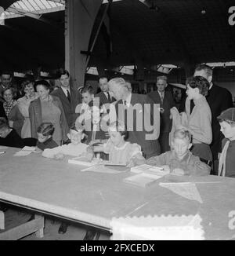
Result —
<path fill-rule="evenodd" d="M 81 172 L 81 166 L 69 164 L 66 160 L 45 159 L 38 153 L 13 156 L 17 150 L 7 148 L 0 156 L 0 200 L 34 210 L 37 214 L 33 222 L 27 222 L 20 229 L 0 233 L 0 240 L 19 239 L 32 232 L 42 237 L 43 214 L 110 230 L 112 218 L 198 213 L 202 218 L 205 239 L 226 240 L 235 235 L 228 226 L 229 213 L 235 210 L 233 178 L 180 177 L 181 181 L 220 181 L 198 183 L 197 189 L 203 200 L 203 203 L 198 203 L 162 188 L 158 181 L 149 188 L 125 184 L 123 179 L 131 175 L 129 172 Z M 165 180 L 168 177 L 159 182 Z M 3 222 L 0 223 L 3 227 Z"/>

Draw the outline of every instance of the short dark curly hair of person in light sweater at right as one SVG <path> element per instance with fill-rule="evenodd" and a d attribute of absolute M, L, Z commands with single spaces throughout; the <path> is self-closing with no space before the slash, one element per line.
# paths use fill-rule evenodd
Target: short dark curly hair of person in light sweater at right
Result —
<path fill-rule="evenodd" d="M 204 77 L 197 75 L 197 76 L 192 76 L 188 79 L 186 79 L 186 86 L 189 85 L 191 88 L 198 88 L 199 92 L 203 96 L 208 95 L 208 90 L 210 87 L 210 83 L 208 82 L 207 79 Z"/>

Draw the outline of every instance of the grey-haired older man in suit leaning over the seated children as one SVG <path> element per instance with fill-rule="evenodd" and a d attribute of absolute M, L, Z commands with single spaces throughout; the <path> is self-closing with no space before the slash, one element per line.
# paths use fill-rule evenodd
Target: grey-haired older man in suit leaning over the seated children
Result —
<path fill-rule="evenodd" d="M 154 101 L 147 95 L 131 93 L 122 78 L 111 79 L 108 86 L 117 99 L 115 109 L 110 108 L 110 122 L 114 116 L 125 122 L 128 130 L 127 141 L 139 144 L 146 159 L 159 155 L 160 145 L 157 139 L 160 117 Z"/>

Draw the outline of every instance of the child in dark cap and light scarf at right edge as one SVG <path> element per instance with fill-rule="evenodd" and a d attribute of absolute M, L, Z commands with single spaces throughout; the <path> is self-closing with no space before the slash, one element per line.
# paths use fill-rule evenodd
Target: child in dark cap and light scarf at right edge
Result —
<path fill-rule="evenodd" d="M 219 157 L 219 176 L 235 177 L 235 108 L 228 108 L 219 116 L 219 124 L 225 138 Z"/>

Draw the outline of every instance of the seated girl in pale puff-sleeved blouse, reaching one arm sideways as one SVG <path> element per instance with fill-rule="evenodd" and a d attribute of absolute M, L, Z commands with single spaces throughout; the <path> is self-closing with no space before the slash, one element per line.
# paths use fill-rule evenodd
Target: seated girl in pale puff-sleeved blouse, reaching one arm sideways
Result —
<path fill-rule="evenodd" d="M 111 163 L 125 164 L 128 167 L 145 163 L 139 144 L 125 141 L 128 131 L 121 122 L 111 123 L 108 129 L 110 139 L 102 146 L 90 146 L 89 152 L 105 152 Z"/>

